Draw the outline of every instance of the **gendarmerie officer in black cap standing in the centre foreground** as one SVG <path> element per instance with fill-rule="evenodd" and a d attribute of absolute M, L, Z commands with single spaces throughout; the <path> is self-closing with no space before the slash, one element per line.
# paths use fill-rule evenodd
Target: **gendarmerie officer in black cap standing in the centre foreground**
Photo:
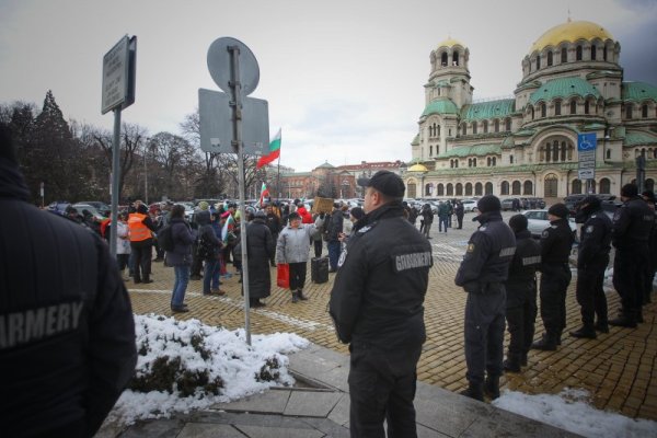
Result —
<path fill-rule="evenodd" d="M 402 178 L 379 171 L 366 186 L 366 216 L 343 250 L 330 300 L 337 336 L 350 343 L 353 437 L 416 437 L 415 382 L 426 333 L 431 246 L 404 217 Z M 372 384 L 376 382 L 376 384 Z"/>

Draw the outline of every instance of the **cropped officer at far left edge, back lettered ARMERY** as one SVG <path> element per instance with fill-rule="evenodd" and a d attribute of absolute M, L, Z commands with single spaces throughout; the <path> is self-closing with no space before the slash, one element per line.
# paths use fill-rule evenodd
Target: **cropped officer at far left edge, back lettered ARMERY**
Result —
<path fill-rule="evenodd" d="M 0 127 L 0 424 L 91 437 L 132 376 L 130 300 L 99 235 L 28 203 Z"/>

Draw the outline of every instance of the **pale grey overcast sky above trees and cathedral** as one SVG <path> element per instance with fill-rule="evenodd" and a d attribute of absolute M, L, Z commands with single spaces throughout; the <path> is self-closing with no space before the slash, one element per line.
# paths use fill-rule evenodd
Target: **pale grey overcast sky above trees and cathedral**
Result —
<path fill-rule="evenodd" d="M 0 0 L 0 102 L 41 107 L 51 89 L 65 117 L 112 129 L 102 58 L 137 35 L 137 97 L 123 120 L 180 134 L 198 89 L 218 90 L 210 44 L 231 36 L 260 64 L 251 96 L 268 101 L 272 136 L 283 128 L 281 164 L 408 161 L 438 43 L 469 47 L 475 99 L 510 96 L 532 43 L 568 9 L 620 42 L 624 80 L 657 85 L 655 0 Z"/>

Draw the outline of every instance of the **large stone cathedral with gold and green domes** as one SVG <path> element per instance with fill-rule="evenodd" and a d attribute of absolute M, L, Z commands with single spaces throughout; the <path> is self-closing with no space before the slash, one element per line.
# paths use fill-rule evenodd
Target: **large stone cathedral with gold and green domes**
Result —
<path fill-rule="evenodd" d="M 581 193 L 618 196 L 630 182 L 654 189 L 657 88 L 625 80 L 620 55 L 602 26 L 568 20 L 531 45 L 512 97 L 477 102 L 468 46 L 440 43 L 430 54 L 412 162 L 402 171 L 406 196 L 556 201 Z M 586 163 L 580 135 L 595 136 Z"/>

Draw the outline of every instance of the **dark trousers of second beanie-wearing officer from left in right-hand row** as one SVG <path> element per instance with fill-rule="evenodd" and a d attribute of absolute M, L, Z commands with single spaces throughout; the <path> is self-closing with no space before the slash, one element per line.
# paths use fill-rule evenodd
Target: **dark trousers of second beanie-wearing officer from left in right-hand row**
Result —
<path fill-rule="evenodd" d="M 510 335 L 509 355 L 527 355 L 533 342 L 537 322 L 537 288 L 514 290 L 507 286 L 506 320 Z"/>

